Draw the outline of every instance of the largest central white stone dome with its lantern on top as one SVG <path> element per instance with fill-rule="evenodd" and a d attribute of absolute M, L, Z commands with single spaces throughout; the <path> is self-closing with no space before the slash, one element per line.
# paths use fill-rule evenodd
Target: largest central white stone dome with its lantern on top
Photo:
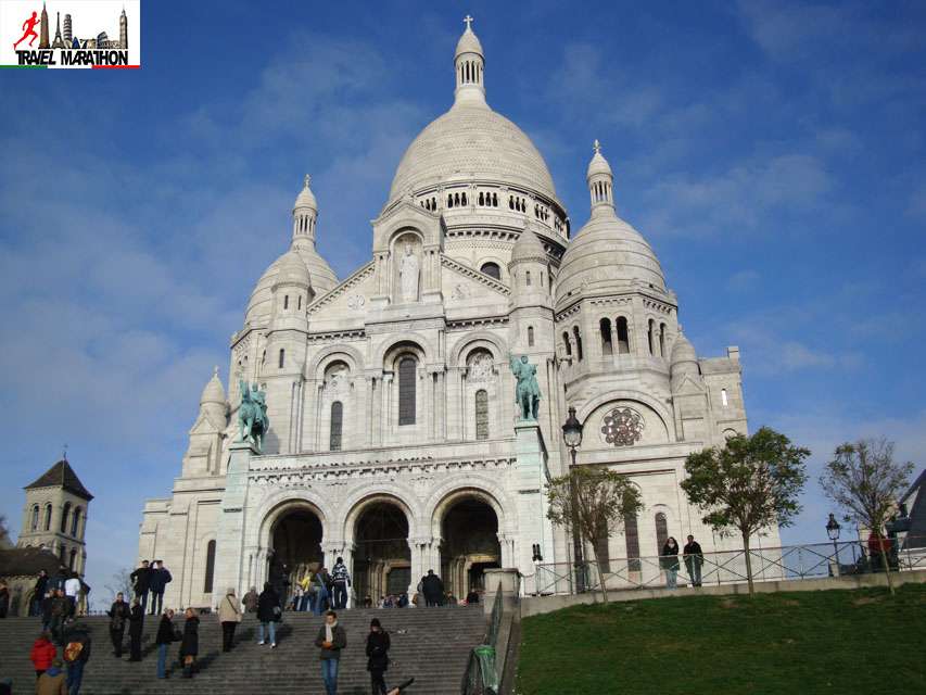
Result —
<path fill-rule="evenodd" d="M 467 26 L 457 43 L 453 108 L 405 151 L 390 200 L 439 184 L 486 180 L 522 186 L 556 200 L 544 157 L 524 132 L 485 103 L 482 46 Z"/>

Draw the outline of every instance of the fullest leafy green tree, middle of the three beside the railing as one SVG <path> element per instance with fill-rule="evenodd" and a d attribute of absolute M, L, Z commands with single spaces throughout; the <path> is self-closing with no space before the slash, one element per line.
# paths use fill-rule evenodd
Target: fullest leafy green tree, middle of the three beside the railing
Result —
<path fill-rule="evenodd" d="M 808 456 L 810 450 L 791 446 L 787 437 L 763 427 L 751 437 L 731 437 L 723 448 L 706 448 L 685 459 L 688 477 L 682 490 L 706 513 L 703 522 L 722 534 L 739 531 L 743 538 L 750 596 L 756 587 L 749 538 L 774 523 L 794 521 Z"/>

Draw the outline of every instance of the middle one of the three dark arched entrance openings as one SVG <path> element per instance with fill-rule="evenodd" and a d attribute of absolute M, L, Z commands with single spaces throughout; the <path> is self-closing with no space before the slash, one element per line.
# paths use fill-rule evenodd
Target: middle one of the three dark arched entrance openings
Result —
<path fill-rule="evenodd" d="M 380 596 L 408 591 L 408 518 L 398 506 L 390 502 L 368 505 L 357 518 L 354 539 L 354 589 L 359 605 L 366 596 L 376 605 Z"/>

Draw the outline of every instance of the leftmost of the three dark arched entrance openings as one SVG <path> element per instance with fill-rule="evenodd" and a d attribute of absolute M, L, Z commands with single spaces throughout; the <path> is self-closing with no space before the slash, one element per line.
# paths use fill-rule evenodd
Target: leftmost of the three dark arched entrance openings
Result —
<path fill-rule="evenodd" d="M 268 581 L 288 601 L 296 581 L 321 566 L 321 520 L 312 509 L 295 508 L 277 520 L 270 538 Z"/>

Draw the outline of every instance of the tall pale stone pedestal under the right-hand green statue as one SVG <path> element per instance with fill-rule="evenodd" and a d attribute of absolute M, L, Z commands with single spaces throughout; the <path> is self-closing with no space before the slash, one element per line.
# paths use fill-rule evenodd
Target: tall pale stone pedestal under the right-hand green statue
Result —
<path fill-rule="evenodd" d="M 515 424 L 516 489 L 520 547 L 512 558 L 522 574 L 534 573 L 532 545 L 540 543 L 545 563 L 554 561 L 553 526 L 546 518 L 547 450 L 536 420 Z M 487 589 L 487 586 L 486 586 Z"/>

